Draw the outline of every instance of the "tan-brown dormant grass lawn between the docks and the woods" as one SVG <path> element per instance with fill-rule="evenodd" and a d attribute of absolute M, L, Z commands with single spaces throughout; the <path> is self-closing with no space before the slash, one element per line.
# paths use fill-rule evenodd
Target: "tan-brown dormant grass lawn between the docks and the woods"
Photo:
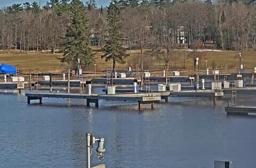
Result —
<path fill-rule="evenodd" d="M 106 62 L 101 59 L 103 54 L 98 49 L 93 50 L 95 53 L 95 61 L 97 64 L 97 70 L 106 70 L 110 67 L 110 62 Z M 15 53 L 15 51 L 12 51 Z M 129 66 L 132 69 L 135 65 L 140 63 L 140 51 L 131 50 L 127 51 L 130 56 L 126 60 L 125 65 L 116 65 L 116 69 L 127 69 Z M 237 51 L 206 51 L 202 52 L 203 58 L 199 60 L 199 68 L 203 69 L 205 67 L 205 60 L 209 68 L 212 67 L 225 67 L 227 64 L 229 68 L 238 68 L 239 59 L 236 58 L 238 55 Z M 183 69 L 184 55 L 188 55 L 189 52 L 181 51 L 180 57 L 177 60 L 171 62 L 171 68 Z M 2 54 L 0 52 L 0 63 L 7 63 L 14 66 L 19 66 L 23 73 L 27 71 L 34 71 L 34 69 L 39 69 L 41 72 L 58 72 L 68 68 L 68 65 L 61 65 L 60 61 L 57 59 L 61 57 L 60 53 L 57 54 L 47 54 L 47 53 L 29 53 L 29 54 Z M 151 59 L 145 54 L 145 68 L 144 69 L 164 69 L 164 63 L 162 61 Z M 256 66 L 256 51 L 245 51 L 242 53 L 242 61 L 246 68 L 253 68 Z M 193 69 L 193 60 L 185 58 L 185 68 Z M 94 68 L 92 68 L 94 70 Z"/>

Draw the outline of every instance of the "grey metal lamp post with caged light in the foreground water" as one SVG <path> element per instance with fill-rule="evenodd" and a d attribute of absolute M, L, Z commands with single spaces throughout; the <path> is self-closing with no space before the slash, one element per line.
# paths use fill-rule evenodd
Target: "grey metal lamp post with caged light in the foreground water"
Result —
<path fill-rule="evenodd" d="M 92 133 L 86 133 L 86 141 L 87 141 L 87 168 L 91 168 L 91 154 L 92 154 L 92 148 L 95 142 L 98 142 L 98 148 L 97 151 L 97 158 L 99 161 L 102 161 L 105 155 L 106 149 L 104 148 L 104 138 L 98 138 L 96 139 Z"/>

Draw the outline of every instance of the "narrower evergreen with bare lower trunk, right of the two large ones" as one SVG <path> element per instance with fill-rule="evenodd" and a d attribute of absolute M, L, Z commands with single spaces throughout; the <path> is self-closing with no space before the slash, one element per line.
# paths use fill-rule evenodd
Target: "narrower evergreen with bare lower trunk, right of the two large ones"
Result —
<path fill-rule="evenodd" d="M 124 64 L 127 57 L 122 44 L 124 39 L 122 33 L 122 10 L 123 4 L 116 0 L 110 2 L 108 6 L 109 37 L 103 50 L 105 54 L 102 55 L 102 58 L 105 58 L 106 61 L 113 60 L 113 71 L 115 70 L 116 62 Z"/>

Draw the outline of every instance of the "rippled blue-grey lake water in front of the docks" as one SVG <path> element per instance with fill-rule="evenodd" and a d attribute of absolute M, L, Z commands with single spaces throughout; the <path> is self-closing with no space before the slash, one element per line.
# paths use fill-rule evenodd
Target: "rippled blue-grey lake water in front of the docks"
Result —
<path fill-rule="evenodd" d="M 102 88 L 94 87 L 93 92 Z M 256 116 L 227 116 L 228 98 L 177 99 L 154 110 L 134 102 L 43 99 L 0 94 L 0 167 L 86 167 L 86 133 L 105 138 L 108 167 L 256 167 Z M 196 100 L 196 101 L 195 101 Z M 255 95 L 238 103 L 255 105 Z M 115 106 L 113 106 L 115 105 Z"/>

